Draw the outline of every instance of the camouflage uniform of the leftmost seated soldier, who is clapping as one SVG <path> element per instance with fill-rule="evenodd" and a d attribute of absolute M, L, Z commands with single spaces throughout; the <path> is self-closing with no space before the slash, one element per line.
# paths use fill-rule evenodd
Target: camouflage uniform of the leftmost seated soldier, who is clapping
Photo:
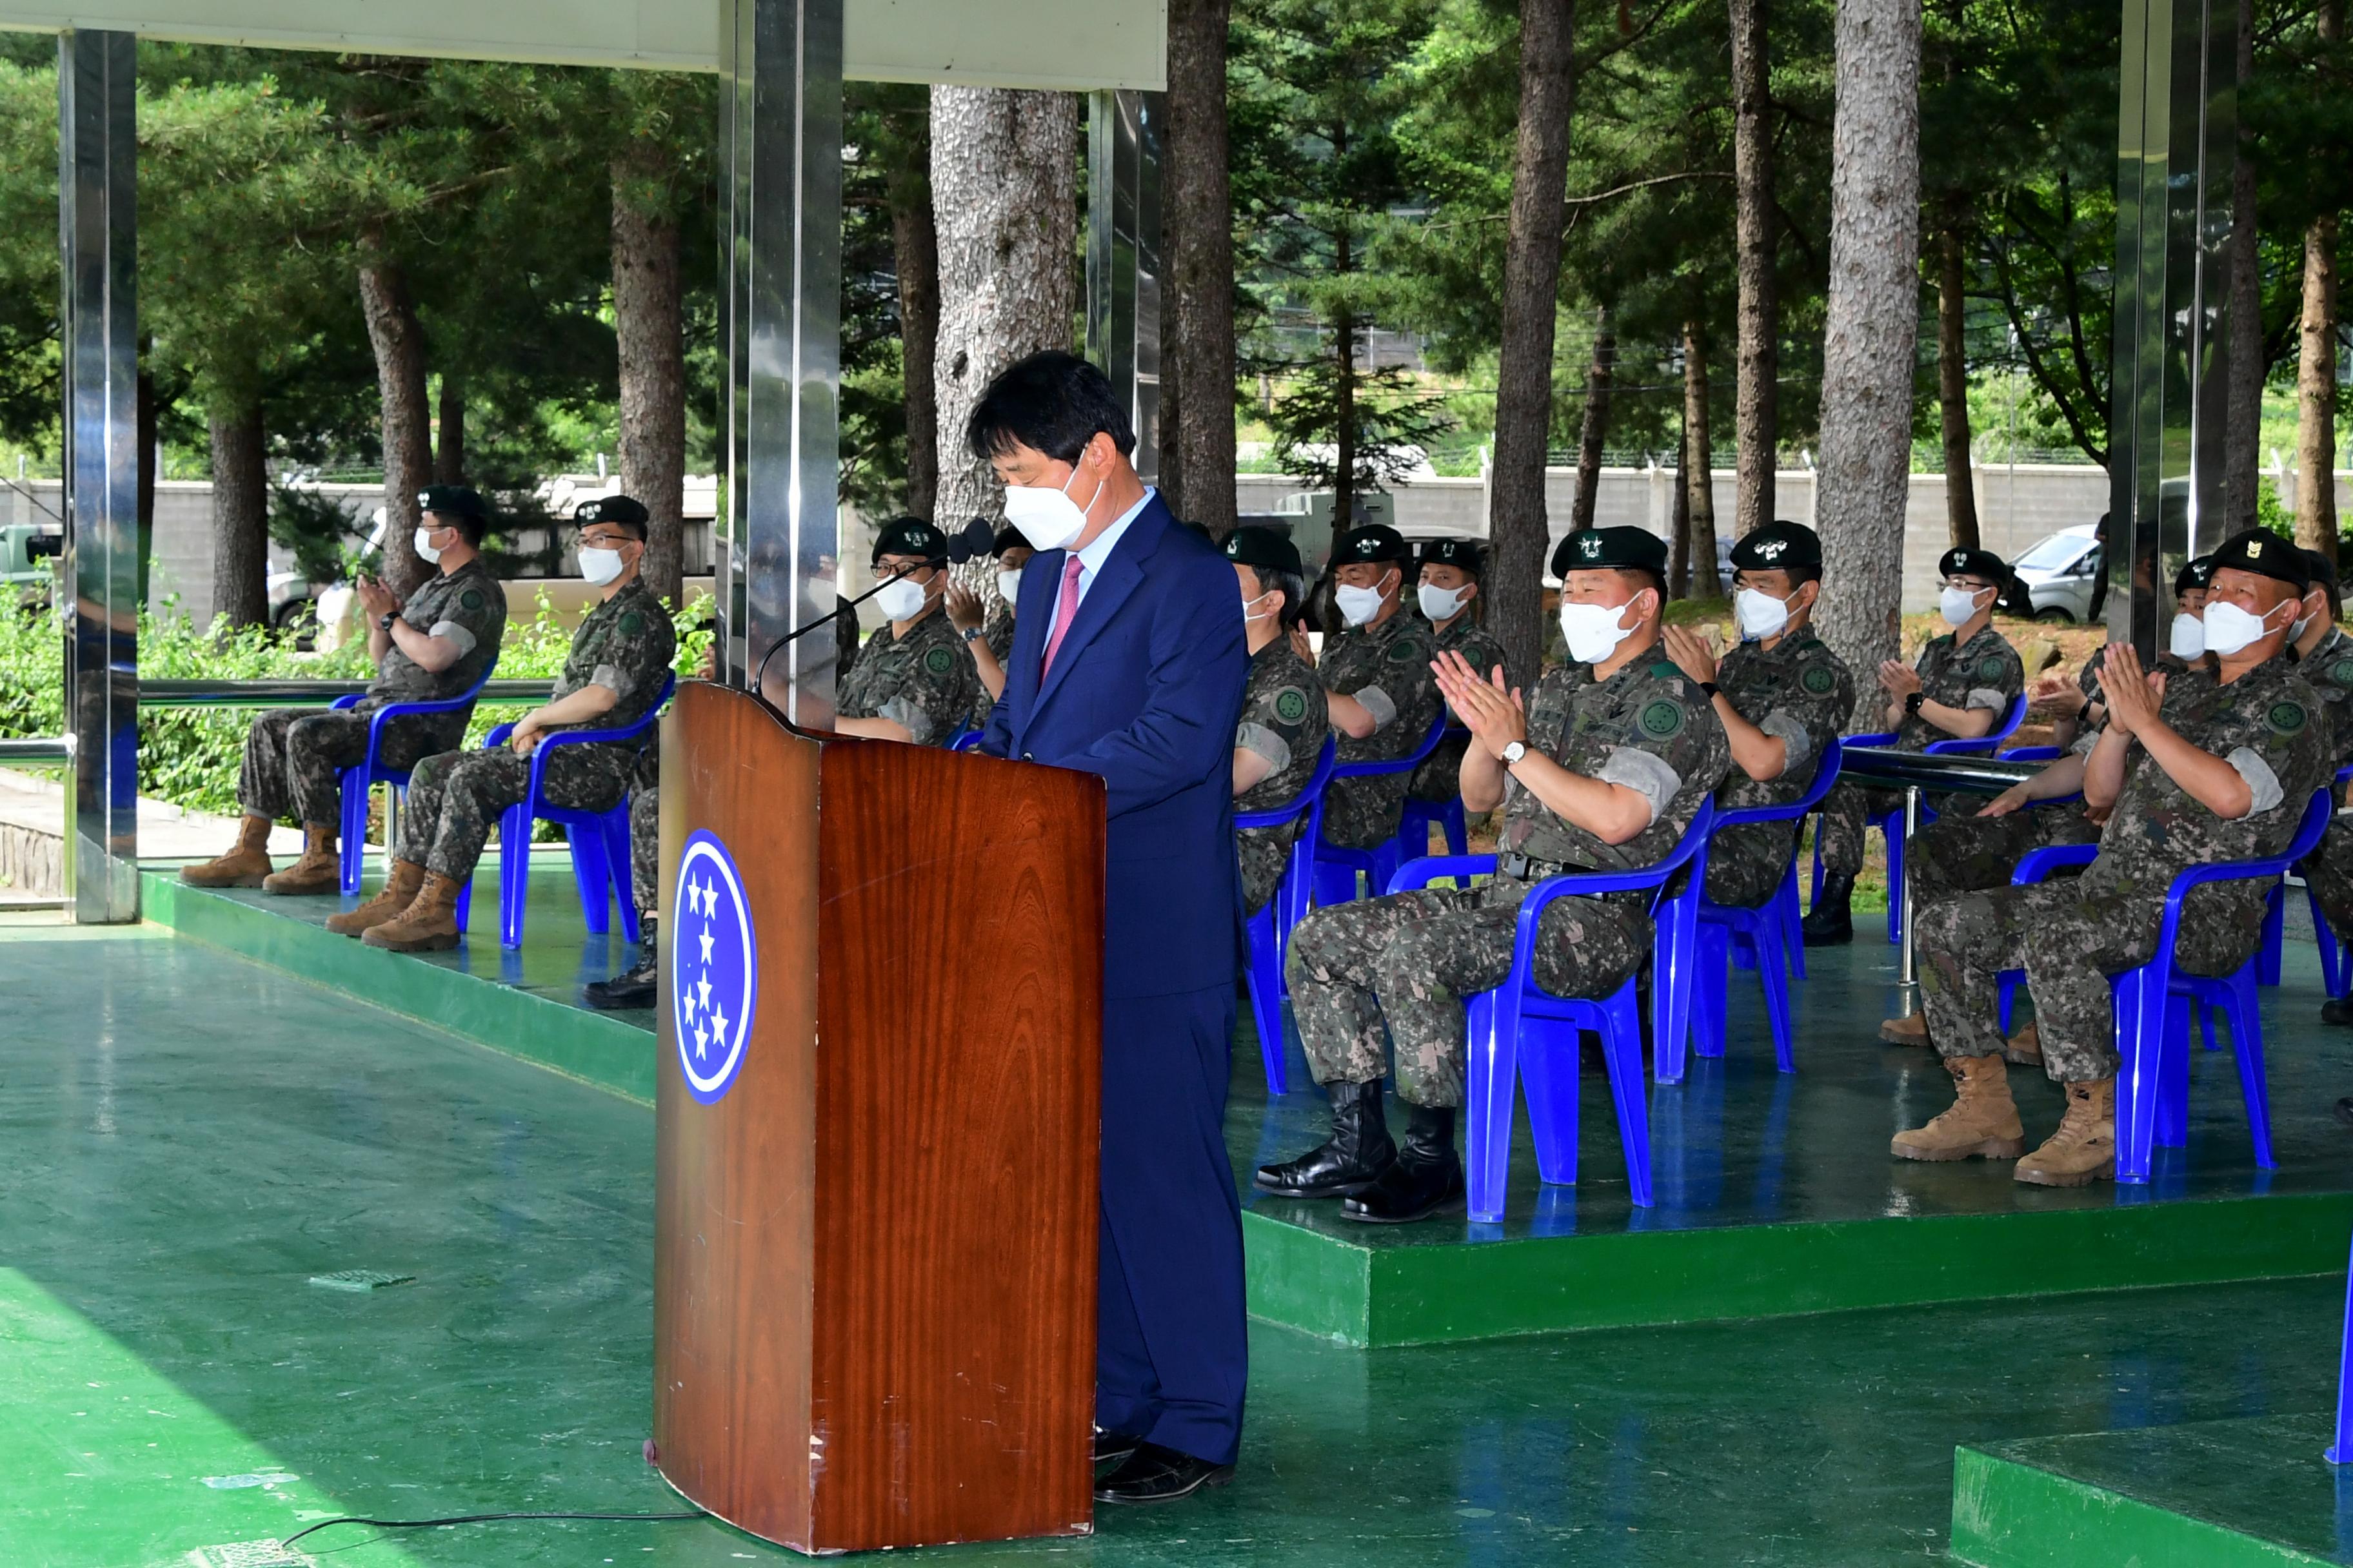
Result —
<path fill-rule="evenodd" d="M 428 637 L 454 642 L 456 663 L 440 672 L 426 670 L 395 642 L 384 649 L 367 696 L 351 708 L 273 708 L 259 715 L 245 731 L 245 764 L 238 769 L 238 804 L 249 816 L 275 823 L 292 813 L 306 827 L 336 827 L 344 820 L 336 776 L 367 757 L 367 715 L 386 703 L 447 701 L 482 679 L 506 637 L 506 592 L 475 557 L 426 581 L 400 607 L 400 618 Z M 464 741 L 471 717 L 471 708 L 459 708 L 393 719 L 384 726 L 376 759 L 388 769 L 414 766 L 419 757 Z"/>

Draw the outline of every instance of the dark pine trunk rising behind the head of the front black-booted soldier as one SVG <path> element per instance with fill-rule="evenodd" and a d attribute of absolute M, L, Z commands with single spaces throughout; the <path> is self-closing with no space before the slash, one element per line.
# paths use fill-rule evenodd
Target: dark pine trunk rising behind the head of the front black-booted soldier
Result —
<path fill-rule="evenodd" d="M 1534 686 L 1544 658 L 1544 461 L 1553 437 L 1553 334 L 1560 315 L 1560 230 L 1567 221 L 1569 115 L 1577 108 L 1574 0 L 1520 2 L 1520 129 L 1511 158 L 1504 242 L 1504 353 L 1487 480 L 1492 567 L 1487 630 L 1511 679 Z"/>

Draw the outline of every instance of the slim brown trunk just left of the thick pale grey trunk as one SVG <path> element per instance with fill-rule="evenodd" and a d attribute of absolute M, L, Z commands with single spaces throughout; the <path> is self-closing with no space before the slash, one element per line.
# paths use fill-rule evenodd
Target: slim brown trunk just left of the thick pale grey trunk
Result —
<path fill-rule="evenodd" d="M 1732 0 L 1732 179 L 1739 277 L 1732 444 L 1734 534 L 1772 522 L 1781 442 L 1781 299 L 1774 277 L 1772 54 L 1765 0 Z"/>

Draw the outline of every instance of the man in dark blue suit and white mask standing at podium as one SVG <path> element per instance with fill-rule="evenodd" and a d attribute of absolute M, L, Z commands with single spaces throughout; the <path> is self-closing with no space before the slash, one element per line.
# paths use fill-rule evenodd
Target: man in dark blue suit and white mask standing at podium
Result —
<path fill-rule="evenodd" d="M 1104 1197 L 1094 1458 L 1104 1502 L 1233 1474 L 1249 1347 L 1226 1157 L 1240 879 L 1233 726 L 1249 654 L 1233 567 L 1127 456 L 1104 371 L 998 376 L 967 442 L 1038 548 L 981 750 L 1104 780 Z"/>

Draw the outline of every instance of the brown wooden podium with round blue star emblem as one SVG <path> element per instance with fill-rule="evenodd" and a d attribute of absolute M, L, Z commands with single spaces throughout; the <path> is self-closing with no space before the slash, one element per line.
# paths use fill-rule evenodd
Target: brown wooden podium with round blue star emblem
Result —
<path fill-rule="evenodd" d="M 694 682 L 661 884 L 661 1474 L 800 1552 L 1085 1535 L 1101 783 L 809 738 Z M 739 924 L 741 1030 L 692 994 L 734 983 L 706 938 Z"/>

